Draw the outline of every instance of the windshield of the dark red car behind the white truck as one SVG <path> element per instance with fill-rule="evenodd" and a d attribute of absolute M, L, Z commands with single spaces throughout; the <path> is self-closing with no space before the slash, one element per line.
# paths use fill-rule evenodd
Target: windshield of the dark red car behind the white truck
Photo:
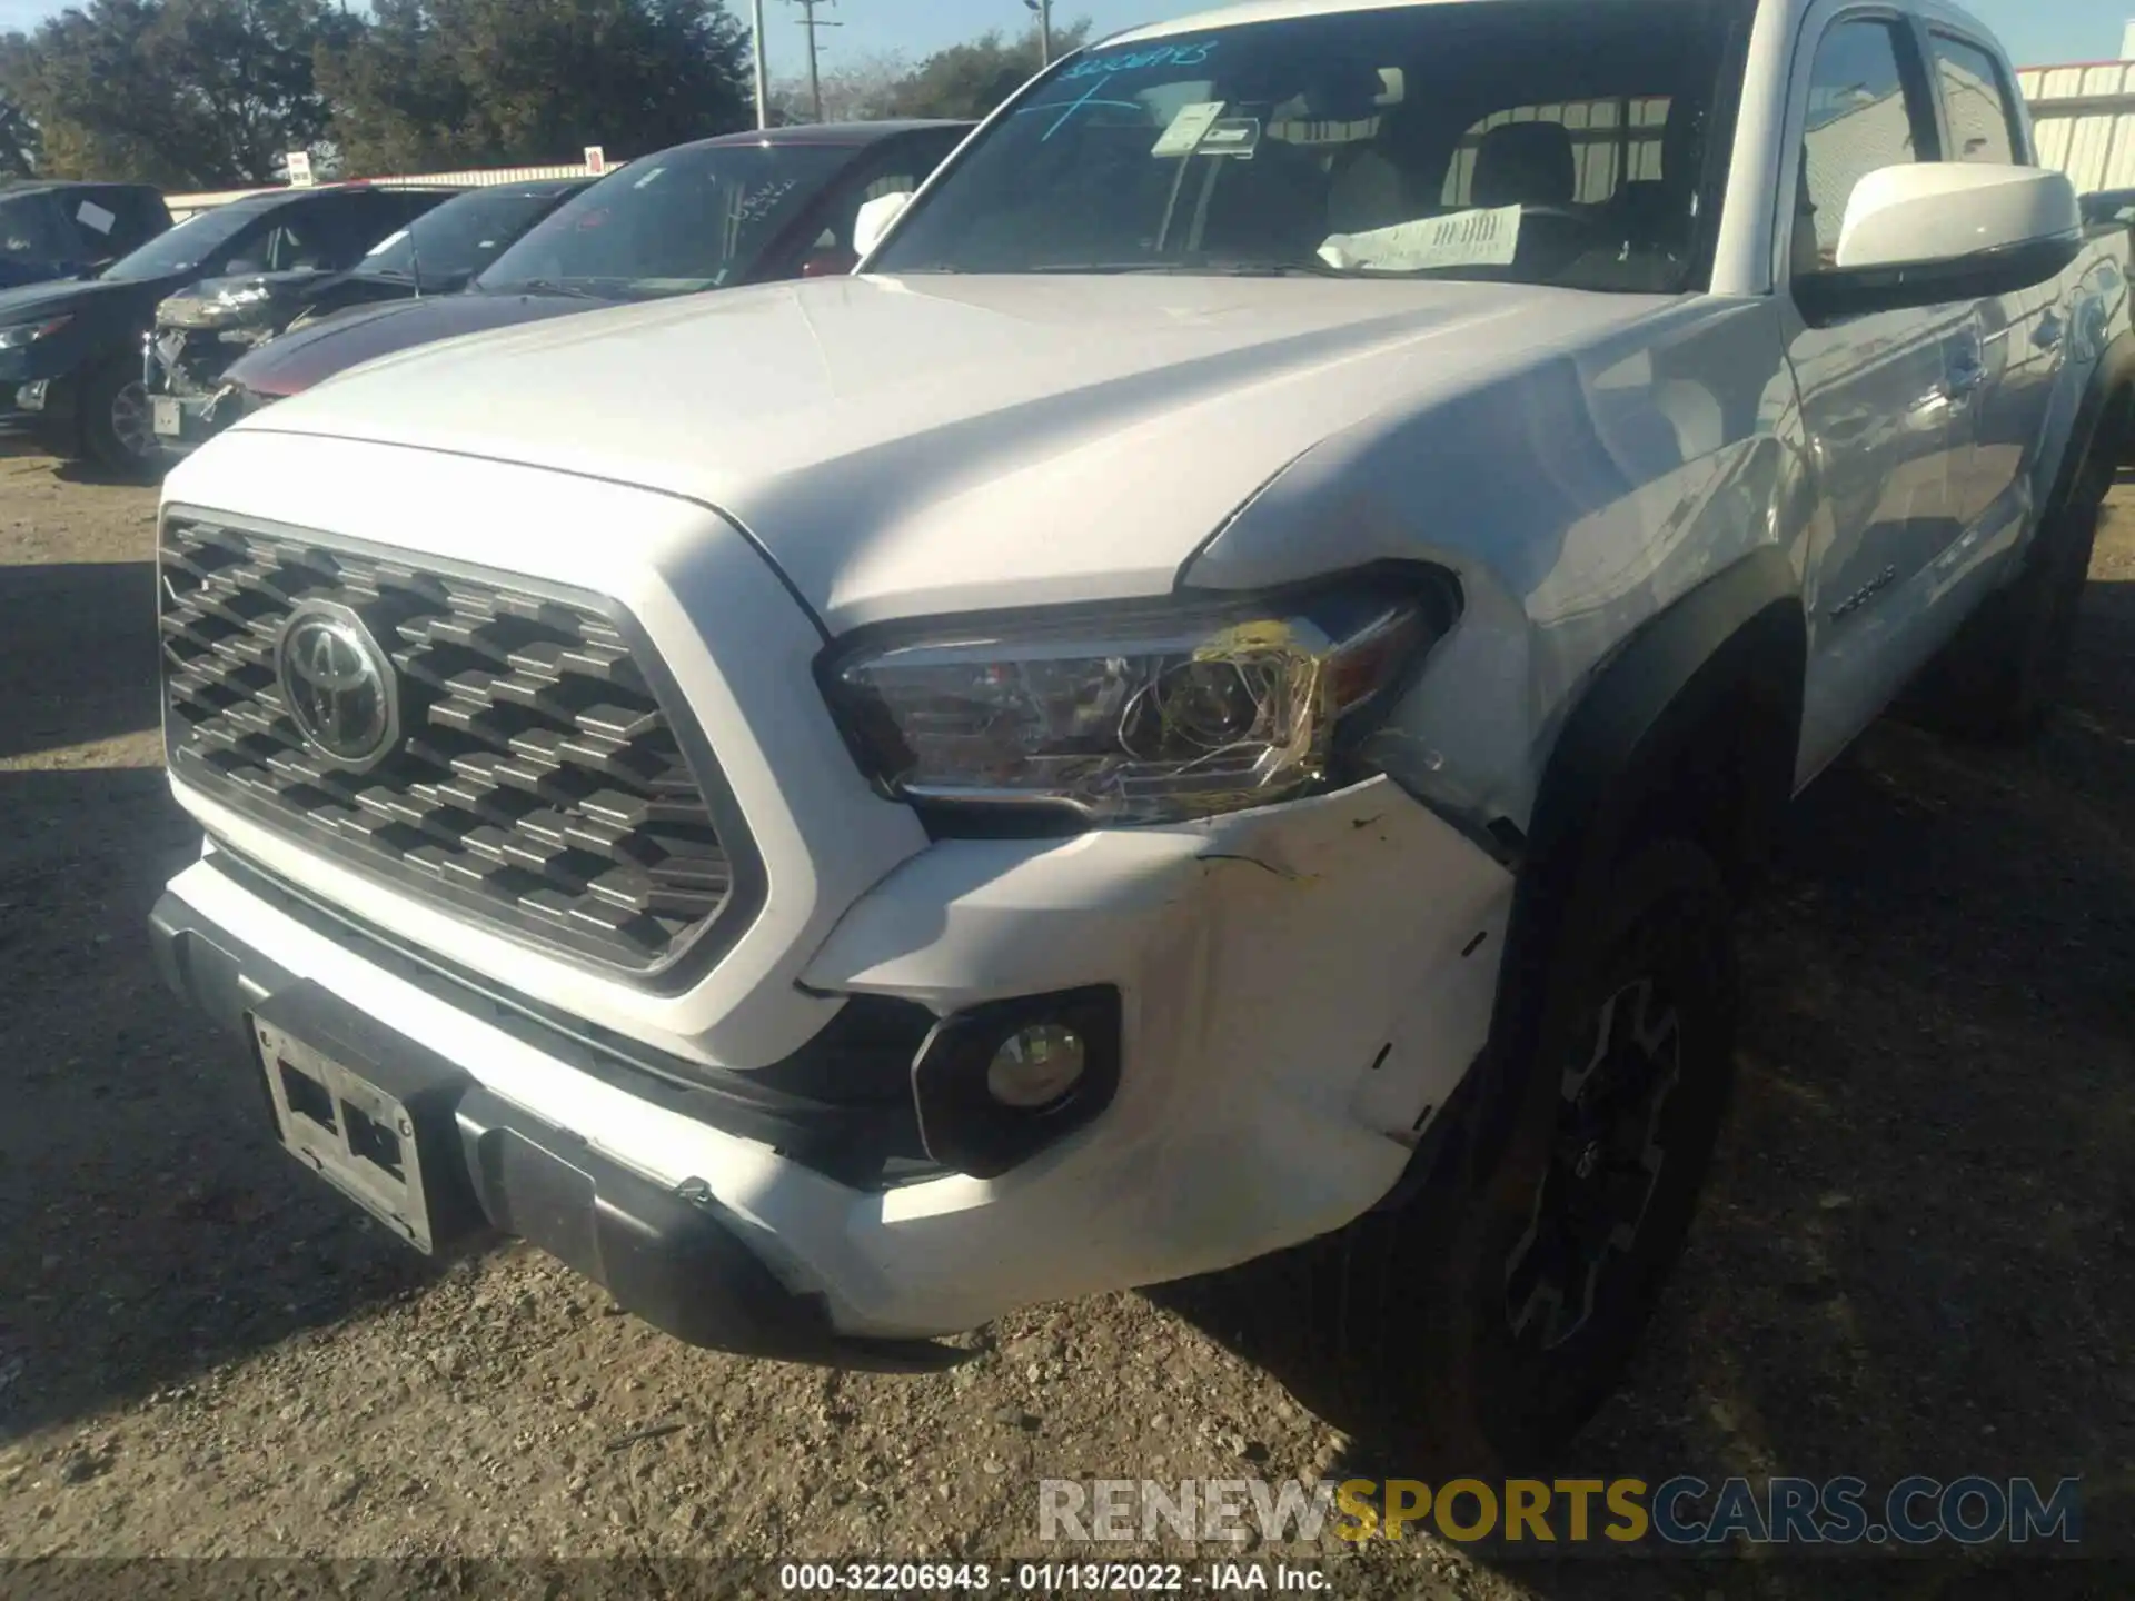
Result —
<path fill-rule="evenodd" d="M 852 160 L 837 145 L 715 145 L 604 177 L 497 256 L 485 290 L 649 299 L 722 288 Z"/>

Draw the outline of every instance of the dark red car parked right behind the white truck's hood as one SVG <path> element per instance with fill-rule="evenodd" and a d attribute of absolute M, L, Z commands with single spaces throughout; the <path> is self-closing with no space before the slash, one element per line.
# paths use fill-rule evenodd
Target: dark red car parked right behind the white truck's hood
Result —
<path fill-rule="evenodd" d="M 916 190 L 969 130 L 967 122 L 811 124 L 640 156 L 557 207 L 459 295 L 357 307 L 248 350 L 205 412 L 186 416 L 186 442 L 361 361 L 433 339 L 852 271 L 860 207 Z"/>

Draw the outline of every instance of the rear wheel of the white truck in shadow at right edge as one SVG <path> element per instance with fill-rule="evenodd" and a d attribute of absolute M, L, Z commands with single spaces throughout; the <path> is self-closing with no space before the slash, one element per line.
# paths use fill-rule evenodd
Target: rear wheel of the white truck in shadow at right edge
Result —
<path fill-rule="evenodd" d="M 2118 435 L 2107 431 L 2069 497 L 2039 521 L 2024 572 L 1990 596 L 1907 696 L 1904 711 L 1954 739 L 2033 739 L 2060 694 L 2090 578 Z"/>

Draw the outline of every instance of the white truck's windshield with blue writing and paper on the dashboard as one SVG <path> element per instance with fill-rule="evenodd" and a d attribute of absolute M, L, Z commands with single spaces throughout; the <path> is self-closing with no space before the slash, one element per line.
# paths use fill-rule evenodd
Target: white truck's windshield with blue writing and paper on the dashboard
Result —
<path fill-rule="evenodd" d="M 995 122 L 871 271 L 1691 288 L 1744 13 L 1499 0 L 1100 47 Z"/>

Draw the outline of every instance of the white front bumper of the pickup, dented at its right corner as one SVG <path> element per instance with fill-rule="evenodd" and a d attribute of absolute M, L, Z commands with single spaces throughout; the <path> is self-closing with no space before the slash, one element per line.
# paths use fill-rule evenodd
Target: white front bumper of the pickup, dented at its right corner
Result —
<path fill-rule="evenodd" d="M 1095 1123 L 1001 1176 L 880 1187 L 794 1159 L 775 1131 L 737 1131 L 715 1106 L 598 1074 L 472 990 L 414 982 L 218 856 L 158 909 L 184 995 L 228 1023 L 316 986 L 465 1072 L 512 1127 L 608 1163 L 630 1193 L 707 1198 L 784 1294 L 822 1306 L 831 1341 L 961 1332 L 1356 1219 L 1403 1178 L 1482 1052 L 1509 909 L 1509 875 L 1383 779 L 1206 828 L 935 845 L 852 907 L 811 988 L 952 1016 L 1003 993 L 1110 984 L 1121 1082 Z M 581 1219 L 529 1238 L 615 1287 L 602 1253 L 572 1247 L 583 1234 Z M 692 1262 L 675 1274 L 700 1274 Z M 647 1315 L 728 1343 L 664 1304 Z"/>

